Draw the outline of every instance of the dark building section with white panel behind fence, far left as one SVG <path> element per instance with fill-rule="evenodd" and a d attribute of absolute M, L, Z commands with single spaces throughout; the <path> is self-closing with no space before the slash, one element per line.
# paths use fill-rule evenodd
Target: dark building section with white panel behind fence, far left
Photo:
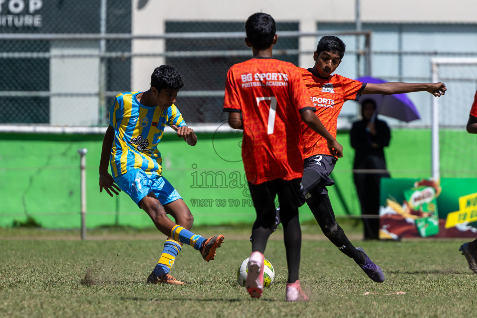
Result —
<path fill-rule="evenodd" d="M 102 43 L 42 35 L 106 32 L 131 32 L 130 0 L 1 1 L 0 123 L 102 124 L 104 111 L 93 105 L 100 103 L 98 93 L 129 89 L 130 76 L 121 73 L 131 62 L 124 57 L 101 59 L 100 53 L 128 52 L 131 40 Z M 28 34 L 30 39 L 21 39 Z M 104 84 L 98 78 L 100 64 Z"/>

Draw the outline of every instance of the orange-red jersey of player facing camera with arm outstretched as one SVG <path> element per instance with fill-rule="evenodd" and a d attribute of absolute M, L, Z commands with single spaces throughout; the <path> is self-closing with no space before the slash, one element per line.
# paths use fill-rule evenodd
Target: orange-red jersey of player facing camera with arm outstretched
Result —
<path fill-rule="evenodd" d="M 336 138 L 336 123 L 343 103 L 358 100 L 366 83 L 355 81 L 338 74 L 328 79 L 314 76 L 307 69 L 300 69 L 301 76 L 308 88 L 309 96 L 316 108 L 315 114 L 320 118 L 326 130 Z M 315 133 L 305 123 L 301 123 L 303 132 L 303 158 L 315 154 L 331 154 L 326 139 Z"/>

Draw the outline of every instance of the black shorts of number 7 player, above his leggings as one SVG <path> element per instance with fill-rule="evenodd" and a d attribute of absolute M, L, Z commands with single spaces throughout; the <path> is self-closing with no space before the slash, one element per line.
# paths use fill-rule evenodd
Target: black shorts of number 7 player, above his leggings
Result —
<path fill-rule="evenodd" d="M 272 209 L 275 211 L 275 196 L 278 195 L 280 209 L 298 209 L 305 203 L 301 190 L 301 178 L 293 180 L 275 179 L 254 185 L 249 182 L 250 195 L 257 214 Z"/>

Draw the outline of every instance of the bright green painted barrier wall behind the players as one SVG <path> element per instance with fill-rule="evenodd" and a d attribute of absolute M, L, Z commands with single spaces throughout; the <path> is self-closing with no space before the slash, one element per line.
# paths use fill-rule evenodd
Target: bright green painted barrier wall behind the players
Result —
<path fill-rule="evenodd" d="M 430 177 L 430 131 L 394 129 L 386 149 L 393 177 Z M 98 163 L 102 135 L 0 134 L 0 226 L 33 216 L 44 227 L 80 226 L 79 148 L 87 148 L 87 226 L 152 226 L 148 216 L 124 193 L 111 198 L 99 193 Z M 163 175 L 184 197 L 196 225 L 229 224 L 254 220 L 240 161 L 241 134 L 198 134 L 195 147 L 176 135 L 161 141 Z M 339 132 L 344 158 L 336 165 L 329 188 L 336 215 L 359 214 L 353 184 L 353 148 L 348 132 Z M 477 177 L 477 139 L 464 131 L 441 133 L 443 177 L 462 170 L 458 177 Z M 457 144 L 456 141 L 459 141 Z M 465 149 L 462 146 L 466 145 Z M 306 205 L 301 220 L 311 219 Z"/>

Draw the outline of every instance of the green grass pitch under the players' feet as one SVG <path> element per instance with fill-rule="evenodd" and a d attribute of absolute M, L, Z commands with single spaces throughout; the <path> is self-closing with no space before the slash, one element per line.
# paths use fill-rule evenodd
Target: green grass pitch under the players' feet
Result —
<path fill-rule="evenodd" d="M 305 234 L 319 233 L 318 226 L 307 228 Z M 250 253 L 249 230 L 221 228 L 226 240 L 210 263 L 185 246 L 171 274 L 186 286 L 145 284 L 162 250 L 161 235 L 129 239 L 131 233 L 118 231 L 121 240 L 99 235 L 82 242 L 55 231 L 40 231 L 48 239 L 15 239 L 30 233 L 19 231 L 0 230 L 0 317 L 462 318 L 477 312 L 477 276 L 458 252 L 470 239 L 355 242 L 383 268 L 383 284 L 330 242 L 304 240 L 301 284 L 311 300 L 286 303 L 280 233 L 265 252 L 276 271 L 273 286 L 252 299 L 236 282 L 237 268 Z M 398 291 L 406 294 L 383 295 Z"/>

